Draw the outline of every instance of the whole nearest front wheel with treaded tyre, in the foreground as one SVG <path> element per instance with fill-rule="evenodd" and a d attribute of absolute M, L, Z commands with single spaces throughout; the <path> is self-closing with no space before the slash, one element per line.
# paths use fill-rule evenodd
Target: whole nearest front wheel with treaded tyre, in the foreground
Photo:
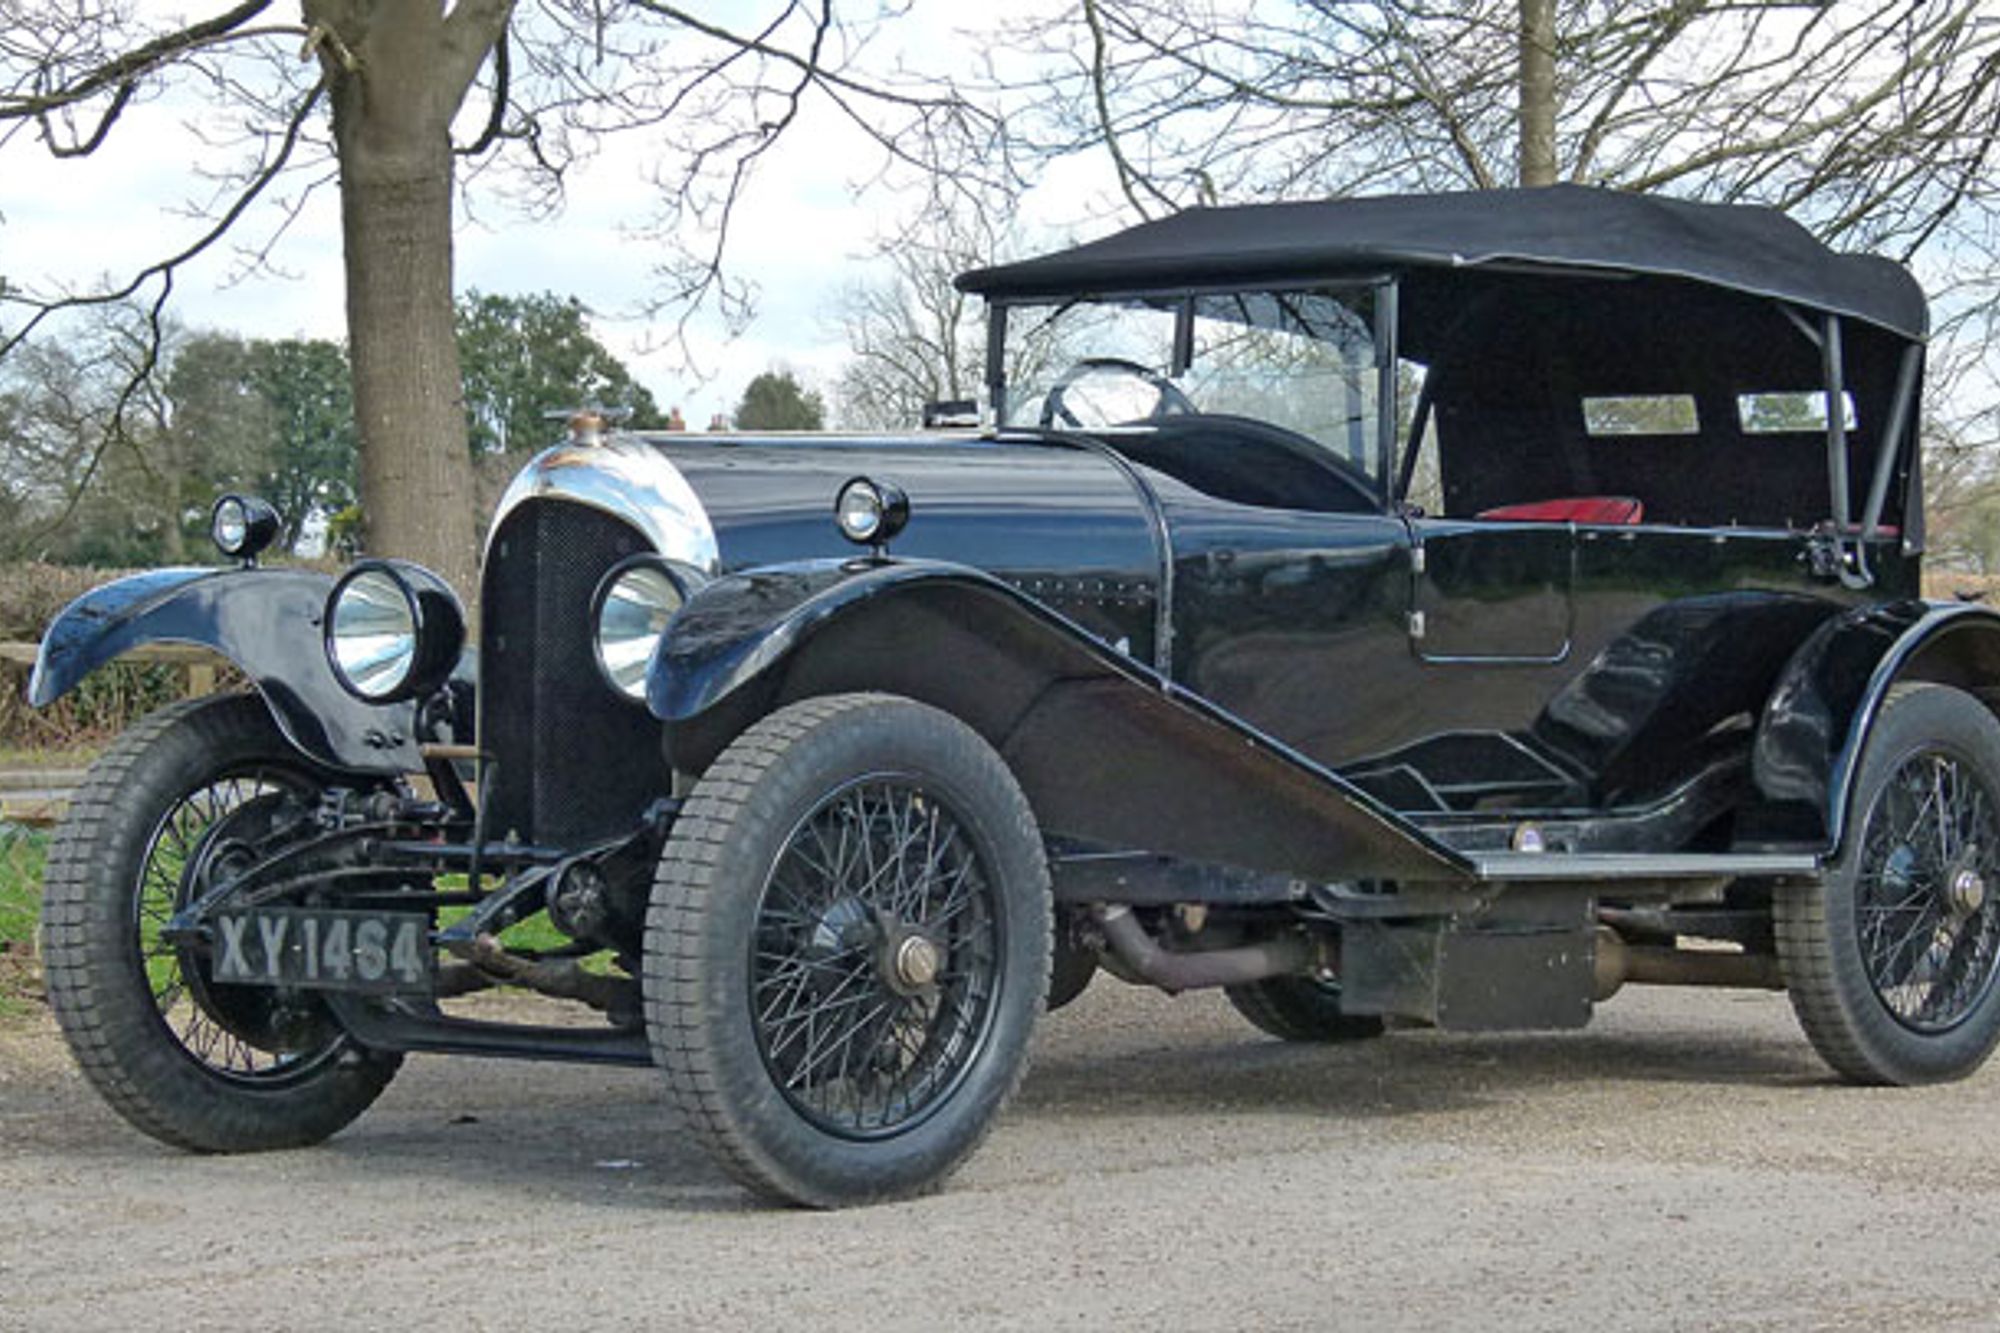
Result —
<path fill-rule="evenodd" d="M 774 713 L 660 857 L 644 993 L 668 1095 L 770 1199 L 930 1191 L 1026 1071 L 1050 919 L 1034 815 L 978 733 L 884 695 Z M 916 937 L 930 987 L 896 961 Z"/>

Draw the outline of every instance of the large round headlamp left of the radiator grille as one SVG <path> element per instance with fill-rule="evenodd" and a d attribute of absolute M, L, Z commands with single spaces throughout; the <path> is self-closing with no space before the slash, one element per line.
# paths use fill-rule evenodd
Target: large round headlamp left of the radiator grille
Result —
<path fill-rule="evenodd" d="M 356 622 L 362 596 L 378 612 L 372 622 Z M 320 638 L 340 689 L 388 705 L 444 685 L 464 648 L 466 614 L 452 588 L 422 564 L 358 560 L 326 594 Z"/>

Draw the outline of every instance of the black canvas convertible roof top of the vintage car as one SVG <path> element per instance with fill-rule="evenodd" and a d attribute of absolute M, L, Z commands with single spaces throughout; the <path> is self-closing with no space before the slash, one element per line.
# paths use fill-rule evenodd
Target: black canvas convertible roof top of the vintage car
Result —
<path fill-rule="evenodd" d="M 1190 208 L 972 270 L 958 286 L 1010 300 L 1368 268 L 1648 274 L 1850 314 L 1906 338 L 1922 338 L 1930 324 L 1924 292 L 1902 264 L 1828 250 L 1774 208 L 1588 186 Z"/>

